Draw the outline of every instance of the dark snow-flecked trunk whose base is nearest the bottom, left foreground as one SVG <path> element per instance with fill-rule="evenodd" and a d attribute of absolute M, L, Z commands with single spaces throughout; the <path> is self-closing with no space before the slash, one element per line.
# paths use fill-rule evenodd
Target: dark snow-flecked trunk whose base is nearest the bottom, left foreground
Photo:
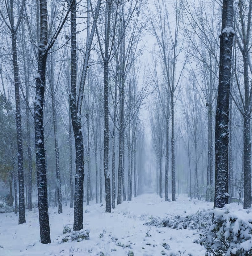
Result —
<path fill-rule="evenodd" d="M 45 72 L 48 47 L 48 23 L 47 23 L 47 1 L 40 0 L 40 43 L 38 55 L 38 70 L 36 79 L 36 96 L 34 101 L 34 122 L 35 122 L 35 150 L 38 182 L 38 206 L 40 222 L 40 242 L 51 243 L 50 225 L 47 200 L 47 177 L 44 147 L 44 93 L 45 93 Z"/>

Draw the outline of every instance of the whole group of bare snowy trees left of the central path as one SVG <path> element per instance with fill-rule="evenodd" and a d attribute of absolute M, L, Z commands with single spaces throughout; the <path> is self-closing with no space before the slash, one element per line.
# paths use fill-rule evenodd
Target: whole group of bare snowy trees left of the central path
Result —
<path fill-rule="evenodd" d="M 140 18 L 142 13 L 141 1 L 102 3 L 98 0 L 94 3 L 88 0 L 85 7 L 75 0 L 50 3 L 46 0 L 22 1 L 21 5 L 12 0 L 2 3 L 1 33 L 4 37 L 1 59 L 5 64 L 1 66 L 1 126 L 8 124 L 10 136 L 6 138 L 7 131 L 3 130 L 8 148 L 3 149 L 1 157 L 11 156 L 12 166 L 8 169 L 3 166 L 1 178 L 10 185 L 10 198 L 14 179 L 16 213 L 19 184 L 19 224 L 22 224 L 25 222 L 25 187 L 29 197 L 28 209 L 32 209 L 34 150 L 41 243 L 51 241 L 48 202 L 49 205 L 52 202 L 53 183 L 54 205 L 58 205 L 58 213 L 63 212 L 64 194 L 67 203 L 70 192 L 70 207 L 74 207 L 73 230 L 83 228 L 84 166 L 87 166 L 87 205 L 94 197 L 94 184 L 96 203 L 103 201 L 102 168 L 106 212 L 111 212 L 111 197 L 112 208 L 115 208 L 116 194 L 117 204 L 121 204 L 122 199 L 126 200 L 126 192 L 127 200 L 132 199 L 132 190 L 133 196 L 137 194 L 136 154 L 143 132 L 139 113 L 149 91 L 148 78 L 140 74 L 142 46 L 139 42 L 144 30 L 144 19 Z M 10 43 L 12 62 L 8 57 Z M 11 69 L 13 75 L 9 72 Z M 13 76 L 16 140 L 12 136 Z M 27 121 L 25 130 L 21 122 L 23 118 Z M 32 142 L 35 142 L 35 148 Z M 28 156 L 25 157 L 23 143 L 28 148 Z M 119 150 L 116 150 L 117 144 Z M 18 163 L 15 162 L 16 145 Z M 53 149 L 55 157 L 49 153 Z M 65 177 L 67 155 L 68 182 Z M 75 182 L 72 174 L 74 156 Z M 24 160 L 28 162 L 28 173 Z M 95 167 L 91 168 L 91 165 Z M 67 187 L 70 187 L 69 192 Z"/>

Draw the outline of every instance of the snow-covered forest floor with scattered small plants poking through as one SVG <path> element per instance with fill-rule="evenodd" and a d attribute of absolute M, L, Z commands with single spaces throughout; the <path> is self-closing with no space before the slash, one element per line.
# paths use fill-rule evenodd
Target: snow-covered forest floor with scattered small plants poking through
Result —
<path fill-rule="evenodd" d="M 175 202 L 166 202 L 155 194 L 144 194 L 131 202 L 116 205 L 111 214 L 105 213 L 105 205 L 94 201 L 90 206 L 83 204 L 84 229 L 90 230 L 90 238 L 81 242 L 59 243 L 64 236 L 64 226 L 69 224 L 71 230 L 73 227 L 73 209 L 69 206 L 63 207 L 63 214 L 57 214 L 57 208 L 49 208 L 52 243 L 48 245 L 40 244 L 38 209 L 26 211 L 26 223 L 22 225 L 17 224 L 18 216 L 14 213 L 0 214 L 0 255 L 127 256 L 129 250 L 134 256 L 204 255 L 204 248 L 193 242 L 199 237 L 197 230 L 146 226 L 144 223 L 151 216 L 186 216 L 211 209 L 212 203 L 189 201 L 182 195 Z M 169 248 L 165 249 L 164 243 Z"/>

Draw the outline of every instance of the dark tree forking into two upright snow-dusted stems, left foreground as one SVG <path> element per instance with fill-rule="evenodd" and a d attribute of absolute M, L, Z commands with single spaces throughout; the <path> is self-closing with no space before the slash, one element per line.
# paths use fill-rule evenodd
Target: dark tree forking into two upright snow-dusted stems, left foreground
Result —
<path fill-rule="evenodd" d="M 77 42 L 76 42 L 76 1 L 71 2 L 71 92 L 69 93 L 71 120 L 73 127 L 73 135 L 75 140 L 75 190 L 74 190 L 74 216 L 73 230 L 81 230 L 83 228 L 83 180 L 84 180 L 84 146 L 82 133 L 82 101 L 86 75 L 90 57 L 91 46 L 96 29 L 97 19 L 100 11 L 101 0 L 98 0 L 96 9 L 93 14 L 93 24 L 90 35 L 86 42 L 85 57 L 82 65 L 81 81 L 76 99 L 77 90 Z M 90 2 L 91 6 L 91 2 Z"/>

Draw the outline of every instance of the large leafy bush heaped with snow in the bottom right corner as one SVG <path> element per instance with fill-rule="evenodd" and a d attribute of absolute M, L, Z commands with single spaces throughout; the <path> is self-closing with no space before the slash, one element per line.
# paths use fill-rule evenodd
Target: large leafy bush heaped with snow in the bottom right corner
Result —
<path fill-rule="evenodd" d="M 206 248 L 207 255 L 252 255 L 251 210 L 237 209 L 237 206 L 230 204 L 208 213 L 214 214 L 213 223 L 199 240 Z"/>

